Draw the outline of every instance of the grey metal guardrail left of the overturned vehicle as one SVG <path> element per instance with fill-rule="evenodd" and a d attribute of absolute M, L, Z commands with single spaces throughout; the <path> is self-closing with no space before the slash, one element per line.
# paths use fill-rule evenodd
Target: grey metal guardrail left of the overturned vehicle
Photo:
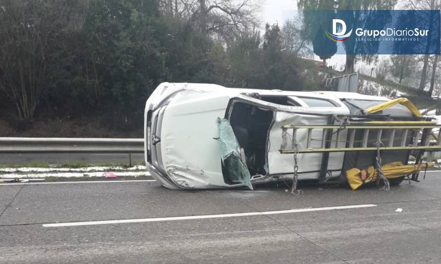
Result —
<path fill-rule="evenodd" d="M 144 139 L 1 138 L 0 153 L 143 153 Z"/>

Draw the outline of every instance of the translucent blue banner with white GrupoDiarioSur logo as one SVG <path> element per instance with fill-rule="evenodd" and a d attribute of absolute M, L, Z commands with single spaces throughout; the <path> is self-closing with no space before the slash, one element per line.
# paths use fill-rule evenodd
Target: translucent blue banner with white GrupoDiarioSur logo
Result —
<path fill-rule="evenodd" d="M 315 47 L 335 54 L 440 54 L 440 10 L 315 10 L 303 21 Z M 302 19 L 299 19 L 302 21 Z M 332 49 L 329 49 L 332 50 Z"/>

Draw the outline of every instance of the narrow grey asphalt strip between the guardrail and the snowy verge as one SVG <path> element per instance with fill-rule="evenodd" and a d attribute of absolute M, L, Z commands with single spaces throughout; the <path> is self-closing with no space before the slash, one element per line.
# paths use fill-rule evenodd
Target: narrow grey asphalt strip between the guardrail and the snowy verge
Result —
<path fill-rule="evenodd" d="M 133 161 L 144 161 L 143 153 L 135 153 Z M 71 161 L 86 161 L 90 163 L 102 162 L 129 162 L 129 155 L 125 153 L 27 153 L 27 154 L 0 154 L 1 164 L 22 164 L 29 162 L 48 162 L 56 164 Z"/>

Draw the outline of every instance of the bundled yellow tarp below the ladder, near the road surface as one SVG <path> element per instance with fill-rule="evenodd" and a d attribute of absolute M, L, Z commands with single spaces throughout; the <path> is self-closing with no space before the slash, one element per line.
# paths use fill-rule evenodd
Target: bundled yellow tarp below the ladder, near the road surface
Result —
<path fill-rule="evenodd" d="M 398 178 L 401 176 L 413 174 L 426 166 L 434 166 L 435 162 L 422 163 L 418 165 L 404 165 L 402 162 L 392 162 L 383 165 L 381 168 L 387 179 Z M 346 177 L 352 190 L 358 189 L 363 183 L 375 182 L 378 178 L 378 172 L 374 166 L 370 166 L 367 170 L 352 168 L 346 170 Z"/>

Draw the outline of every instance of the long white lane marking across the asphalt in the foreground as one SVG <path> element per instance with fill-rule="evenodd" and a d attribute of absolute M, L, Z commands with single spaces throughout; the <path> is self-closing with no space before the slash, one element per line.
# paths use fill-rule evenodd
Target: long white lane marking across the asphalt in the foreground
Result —
<path fill-rule="evenodd" d="M 98 224 L 122 224 L 122 223 L 143 223 L 143 222 L 161 222 L 161 221 L 177 221 L 177 220 L 192 220 L 192 219 L 208 219 L 208 218 L 224 218 L 224 217 L 238 217 L 238 216 L 253 216 L 253 215 L 269 215 L 281 213 L 294 212 L 309 212 L 309 211 L 329 211 L 342 210 L 353 208 L 376 207 L 376 205 L 355 205 L 355 206 L 334 206 L 321 208 L 305 208 L 281 211 L 263 211 L 263 212 L 240 212 L 240 213 L 223 213 L 223 214 L 208 214 L 208 215 L 192 215 L 192 216 L 174 216 L 174 217 L 156 217 L 156 218 L 140 218 L 140 219 L 122 219 L 122 220 L 104 220 L 104 221 L 84 221 L 84 222 L 66 222 L 66 223 L 51 223 L 43 224 L 43 227 L 63 227 L 63 226 L 80 226 L 80 225 L 98 225 Z"/>

